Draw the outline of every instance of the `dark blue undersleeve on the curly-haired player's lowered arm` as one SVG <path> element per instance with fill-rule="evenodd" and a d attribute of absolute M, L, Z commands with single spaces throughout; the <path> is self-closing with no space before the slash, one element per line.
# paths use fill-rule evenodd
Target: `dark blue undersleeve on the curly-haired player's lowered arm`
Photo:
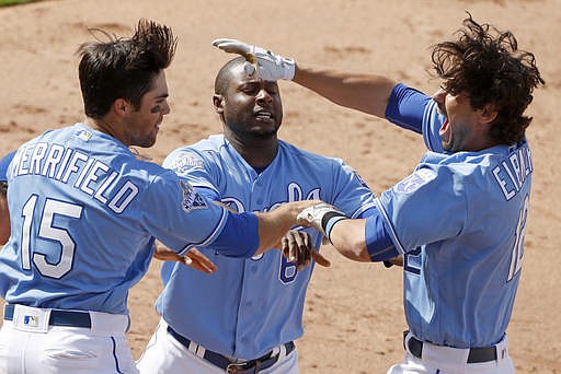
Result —
<path fill-rule="evenodd" d="M 399 255 L 390 235 L 383 227 L 383 219 L 378 210 L 366 219 L 365 239 L 373 261 L 383 261 Z"/>

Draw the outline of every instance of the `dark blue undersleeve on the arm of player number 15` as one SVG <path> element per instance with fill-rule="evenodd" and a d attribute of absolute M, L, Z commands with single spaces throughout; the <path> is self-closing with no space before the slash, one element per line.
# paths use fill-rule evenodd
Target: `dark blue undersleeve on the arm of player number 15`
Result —
<path fill-rule="evenodd" d="M 252 257 L 259 248 L 257 217 L 228 212 L 224 230 L 208 248 L 228 257 Z"/>

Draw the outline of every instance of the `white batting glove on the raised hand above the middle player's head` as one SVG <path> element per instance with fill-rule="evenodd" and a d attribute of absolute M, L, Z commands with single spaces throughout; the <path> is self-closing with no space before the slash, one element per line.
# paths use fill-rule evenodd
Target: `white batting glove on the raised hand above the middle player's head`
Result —
<path fill-rule="evenodd" d="M 248 69 L 248 74 L 253 74 L 255 70 L 259 77 L 264 81 L 277 81 L 286 79 L 291 81 L 296 72 L 296 62 L 291 58 L 275 55 L 271 50 L 252 46 L 236 39 L 215 39 L 213 45 L 230 54 L 238 54 L 251 62 L 253 69 Z"/>

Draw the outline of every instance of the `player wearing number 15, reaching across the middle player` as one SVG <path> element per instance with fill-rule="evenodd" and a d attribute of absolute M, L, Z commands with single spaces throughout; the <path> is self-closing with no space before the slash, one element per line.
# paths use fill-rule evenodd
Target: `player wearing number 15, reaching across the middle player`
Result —
<path fill-rule="evenodd" d="M 251 257 L 310 204 L 234 214 L 136 157 L 129 147 L 151 147 L 170 113 L 164 69 L 175 45 L 169 27 L 140 20 L 130 38 L 80 46 L 85 121 L 24 143 L 11 161 L 0 373 L 137 373 L 127 293 L 156 238 L 179 256 L 213 245 Z"/>

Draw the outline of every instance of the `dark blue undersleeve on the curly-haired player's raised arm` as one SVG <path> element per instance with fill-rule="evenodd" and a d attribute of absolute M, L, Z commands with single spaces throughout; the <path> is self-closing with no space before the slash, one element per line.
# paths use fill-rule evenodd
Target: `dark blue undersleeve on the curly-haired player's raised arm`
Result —
<path fill-rule="evenodd" d="M 431 96 L 398 83 L 386 106 L 386 118 L 401 128 L 422 133 L 424 109 L 430 101 Z"/>

